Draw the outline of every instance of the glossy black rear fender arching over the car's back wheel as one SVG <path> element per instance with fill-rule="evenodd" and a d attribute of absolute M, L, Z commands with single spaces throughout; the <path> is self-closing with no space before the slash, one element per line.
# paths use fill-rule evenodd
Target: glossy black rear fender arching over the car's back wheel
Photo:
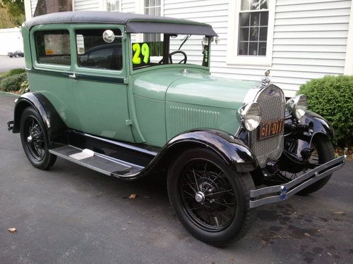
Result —
<path fill-rule="evenodd" d="M 66 125 L 47 97 L 40 92 L 28 92 L 20 96 L 16 101 L 13 113 L 13 133 L 20 132 L 20 118 L 23 110 L 28 106 L 35 108 L 41 116 L 50 144 L 57 141 L 57 138 L 61 137 L 66 131 Z"/>

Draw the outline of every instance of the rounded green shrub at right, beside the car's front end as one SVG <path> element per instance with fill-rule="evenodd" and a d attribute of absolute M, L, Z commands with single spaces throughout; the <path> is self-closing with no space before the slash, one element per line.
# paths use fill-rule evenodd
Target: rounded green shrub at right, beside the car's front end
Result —
<path fill-rule="evenodd" d="M 299 94 L 308 96 L 309 109 L 333 125 L 335 144 L 351 146 L 353 135 L 353 76 L 325 76 L 301 85 Z"/>

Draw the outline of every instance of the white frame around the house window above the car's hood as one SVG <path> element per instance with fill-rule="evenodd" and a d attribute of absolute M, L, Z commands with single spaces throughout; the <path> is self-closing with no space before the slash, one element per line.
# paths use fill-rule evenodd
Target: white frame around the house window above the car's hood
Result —
<path fill-rule="evenodd" d="M 275 6 L 275 0 L 268 0 L 268 36 L 266 44 L 266 56 L 238 55 L 239 12 L 241 11 L 241 0 L 234 0 L 229 2 L 227 65 L 272 66 Z"/>

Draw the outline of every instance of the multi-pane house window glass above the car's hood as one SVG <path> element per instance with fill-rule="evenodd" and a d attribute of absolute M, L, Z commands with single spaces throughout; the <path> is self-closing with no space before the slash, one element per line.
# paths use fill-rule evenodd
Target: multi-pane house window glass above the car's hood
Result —
<path fill-rule="evenodd" d="M 268 0 L 241 0 L 238 55 L 266 56 Z"/>

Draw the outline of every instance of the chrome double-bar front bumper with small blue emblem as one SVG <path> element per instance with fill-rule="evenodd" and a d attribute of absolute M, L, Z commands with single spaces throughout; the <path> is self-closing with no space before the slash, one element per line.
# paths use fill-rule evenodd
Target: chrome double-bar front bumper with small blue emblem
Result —
<path fill-rule="evenodd" d="M 336 170 L 340 170 L 340 168 L 345 165 L 346 157 L 346 155 L 343 155 L 332 161 L 328 161 L 286 184 L 251 190 L 250 208 L 262 206 L 266 203 L 277 203 L 279 201 L 287 200 L 289 197 L 297 194 L 298 191 L 301 191 L 314 182 L 323 179 Z"/>

